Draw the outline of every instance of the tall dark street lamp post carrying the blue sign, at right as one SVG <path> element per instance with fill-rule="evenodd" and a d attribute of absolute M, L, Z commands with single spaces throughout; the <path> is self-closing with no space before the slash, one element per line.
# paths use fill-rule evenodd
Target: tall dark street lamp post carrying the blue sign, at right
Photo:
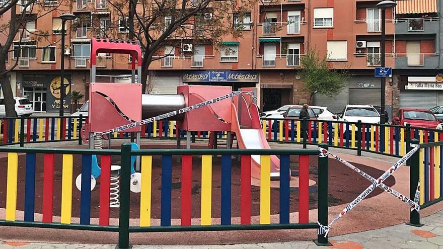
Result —
<path fill-rule="evenodd" d="M 380 3 L 378 3 L 376 5 L 377 8 L 382 10 L 382 40 L 381 40 L 381 67 L 385 67 L 385 40 L 386 40 L 386 9 L 388 8 L 393 8 L 397 6 L 397 4 L 393 1 L 382 1 Z M 385 116 L 385 102 L 386 102 L 386 98 L 385 98 L 385 88 L 386 88 L 386 78 L 382 77 L 381 78 L 381 103 L 380 103 L 380 123 L 384 124 L 386 121 L 386 116 Z"/>

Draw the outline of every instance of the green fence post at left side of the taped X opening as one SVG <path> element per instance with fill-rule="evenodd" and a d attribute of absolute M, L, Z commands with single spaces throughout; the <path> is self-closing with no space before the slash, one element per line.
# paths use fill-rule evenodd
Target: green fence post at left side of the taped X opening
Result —
<path fill-rule="evenodd" d="M 328 149 L 328 144 L 321 143 L 319 147 Z M 328 156 L 318 158 L 318 222 L 320 224 L 328 225 Z M 317 234 L 317 240 L 314 241 L 317 245 L 332 245 L 328 241 L 328 236 Z"/>

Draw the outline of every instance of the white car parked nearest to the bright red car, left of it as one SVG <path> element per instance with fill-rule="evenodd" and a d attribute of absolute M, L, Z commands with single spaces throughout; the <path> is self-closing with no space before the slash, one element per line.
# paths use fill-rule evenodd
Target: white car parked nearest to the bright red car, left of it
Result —
<path fill-rule="evenodd" d="M 347 105 L 338 116 L 338 121 L 377 124 L 380 123 L 380 114 L 369 105 Z"/>

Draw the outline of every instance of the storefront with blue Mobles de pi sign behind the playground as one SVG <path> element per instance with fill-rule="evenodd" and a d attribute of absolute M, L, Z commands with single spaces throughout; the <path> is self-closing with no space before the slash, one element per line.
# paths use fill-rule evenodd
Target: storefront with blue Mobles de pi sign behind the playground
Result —
<path fill-rule="evenodd" d="M 228 86 L 233 91 L 258 87 L 259 73 L 255 71 L 185 71 L 183 83 L 189 85 Z"/>

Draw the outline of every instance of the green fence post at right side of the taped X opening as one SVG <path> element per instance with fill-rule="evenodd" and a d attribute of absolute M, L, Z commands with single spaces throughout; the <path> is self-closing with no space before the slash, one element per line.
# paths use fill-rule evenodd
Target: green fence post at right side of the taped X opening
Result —
<path fill-rule="evenodd" d="M 412 144 L 419 144 L 417 139 L 411 140 Z M 415 152 L 411 156 L 411 167 L 409 167 L 409 197 L 411 200 L 415 198 L 415 192 L 417 191 L 417 186 L 419 182 L 419 174 L 420 174 L 420 150 Z M 420 186 L 420 191 L 424 190 L 424 186 Z M 409 222 L 406 223 L 411 226 L 422 226 L 420 223 L 420 213 L 417 210 L 413 209 L 410 212 Z"/>

